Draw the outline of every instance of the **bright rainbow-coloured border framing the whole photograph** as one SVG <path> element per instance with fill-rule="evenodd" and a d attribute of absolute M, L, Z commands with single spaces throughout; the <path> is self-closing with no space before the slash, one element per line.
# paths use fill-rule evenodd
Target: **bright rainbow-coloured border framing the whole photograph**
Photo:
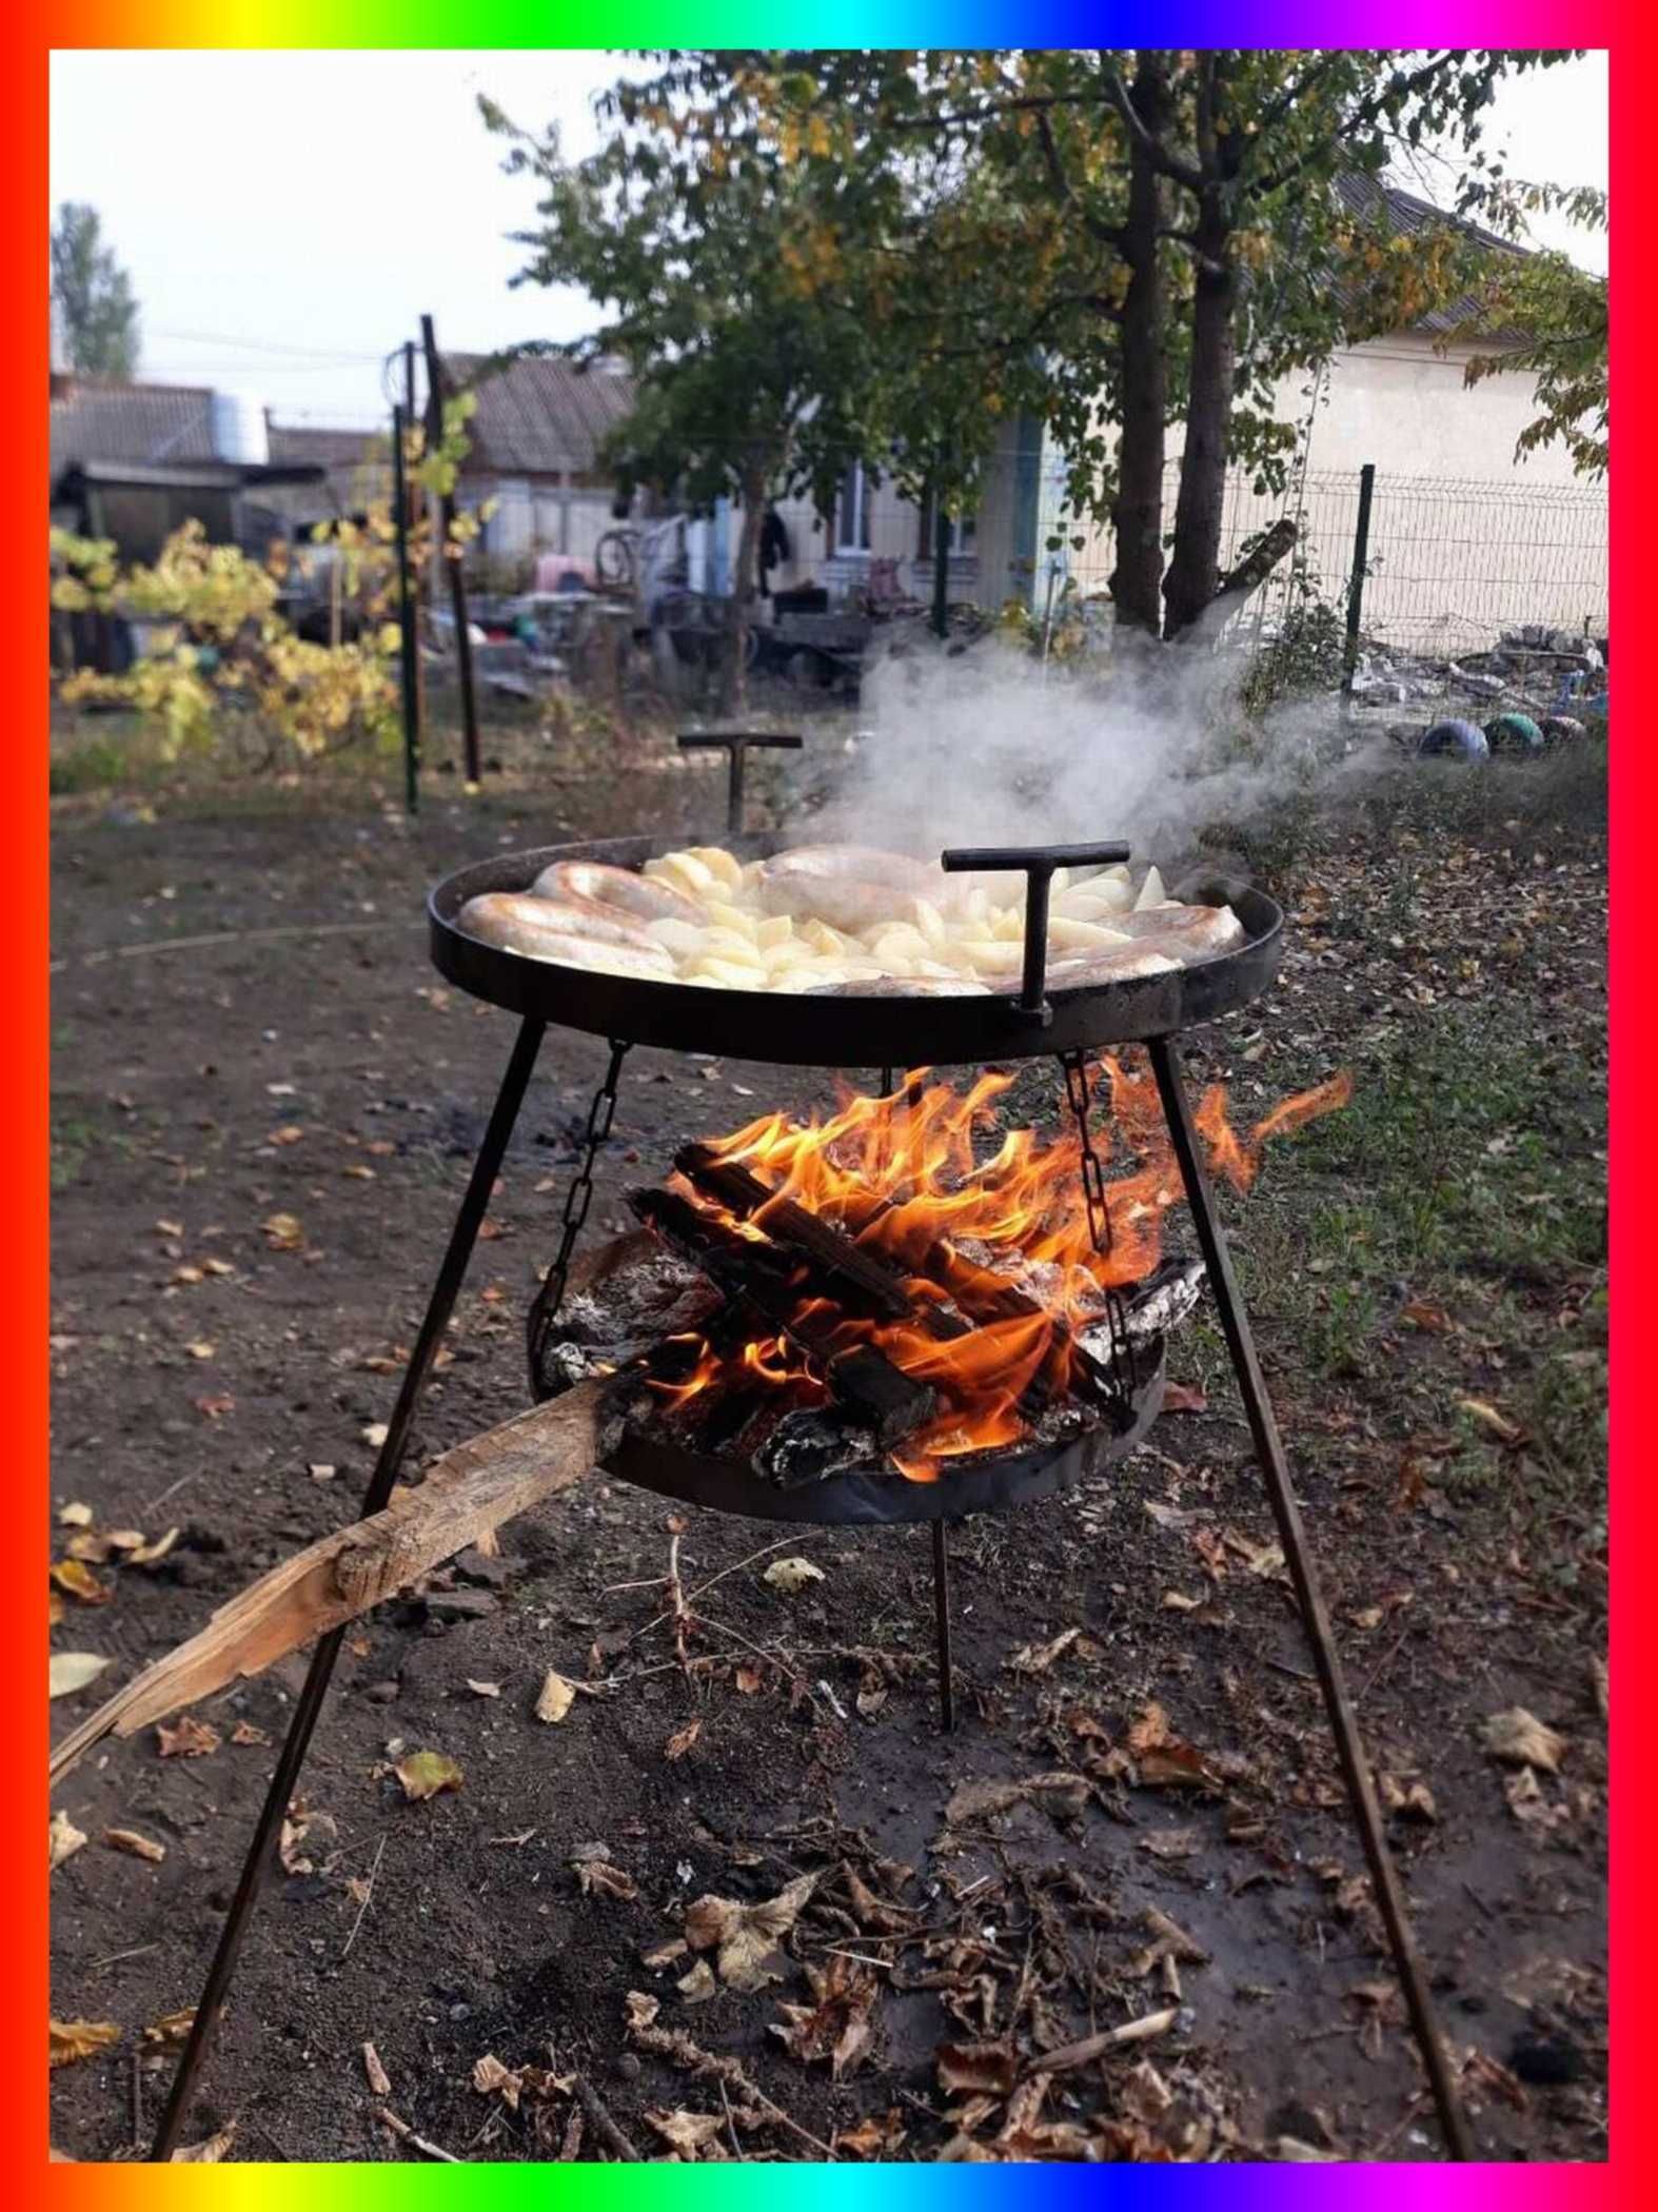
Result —
<path fill-rule="evenodd" d="M 809 0 L 772 22 L 763 0 L 703 0 L 672 7 L 665 0 L 615 0 L 604 15 L 606 44 L 760 44 L 778 33 L 796 44 L 860 44 L 875 35 L 909 42 L 993 44 L 997 40 L 1063 46 L 1072 40 L 1094 42 L 1114 31 L 1130 40 L 1147 38 L 1169 46 L 1203 44 L 1284 44 L 1284 46 L 1364 46 L 1391 38 L 1402 46 L 1430 44 L 1508 44 L 1508 46 L 1605 46 L 1612 51 L 1612 177 L 1618 204 L 1612 265 L 1616 272 L 1614 354 L 1618 392 L 1636 396 L 1618 418 L 1618 482 L 1612 495 L 1612 608 L 1614 628 L 1629 639 L 1640 637 L 1636 622 L 1645 608 L 1640 584 L 1649 568 L 1649 546 L 1638 540 L 1647 502 L 1658 495 L 1654 471 L 1651 411 L 1640 405 L 1640 365 L 1651 356 L 1658 334 L 1658 312 L 1651 303 L 1651 274 L 1643 265 L 1643 217 L 1654 208 L 1654 190 L 1640 161 L 1643 128 L 1651 122 L 1647 106 L 1658 82 L 1658 38 L 1649 29 L 1651 9 L 1634 0 L 1253 0 L 1222 7 L 1220 0 L 893 0 L 875 9 L 871 0 Z M 46 228 L 46 128 L 49 128 L 49 55 L 53 49 L 108 46 L 287 46 L 287 49 L 363 49 L 363 46 L 455 46 L 464 29 L 469 49 L 577 49 L 575 31 L 590 31 L 588 9 L 570 0 L 535 4 L 535 0 L 473 0 L 458 22 L 458 11 L 438 0 L 13 0 L 4 51 L 11 62 L 11 113 L 7 117 L 4 161 L 11 173 L 7 192 L 7 259 L 11 296 L 31 301 L 22 314 L 22 336 L 0 358 L 0 376 L 9 400 L 9 420 L 20 425 L 18 449 L 22 484 L 18 511 L 29 518 L 46 504 L 46 440 L 40 434 L 40 387 L 46 372 L 46 316 L 40 265 L 40 241 Z M 1647 533 L 1649 535 L 1649 533 Z M 35 533 L 13 526 L 0 542 L 18 635 L 38 639 L 46 626 L 46 564 L 40 560 Z M 1616 619 L 1623 617 L 1623 619 Z M 27 648 L 29 650 L 29 648 Z M 29 666 L 27 659 L 18 664 Z M 46 911 L 49 863 L 44 823 L 49 701 L 44 670 L 27 677 L 31 690 L 22 730 L 4 750 L 7 805 L 4 880 L 13 905 L 33 918 Z M 1651 1644 L 1640 1619 L 1640 1564 L 1658 1537 L 1658 1506 L 1640 1464 L 1640 1376 L 1638 1358 L 1654 1323 L 1658 1296 L 1651 1292 L 1643 1250 L 1658 1245 L 1658 1199 L 1640 1175 L 1645 1102 L 1654 1093 L 1658 1051 L 1640 1022 L 1636 991 L 1645 980 L 1649 956 L 1636 940 L 1638 856 L 1651 845 L 1654 790 L 1658 787 L 1658 752 L 1645 752 L 1645 730 L 1638 728 L 1640 670 L 1627 679 L 1629 721 L 1625 754 L 1614 763 L 1612 807 L 1612 883 L 1614 905 L 1627 909 L 1609 940 L 1612 980 L 1612 1124 L 1609 1166 L 1616 1208 L 1612 1239 L 1614 1270 L 1614 1365 L 1612 1365 L 1612 1502 L 1618 1546 L 1614 1557 L 1612 1646 L 1620 1697 L 1638 1694 L 1643 1659 Z M 9 1254 L 0 1296 L 4 1298 L 7 1409 L 13 1444 L 13 1467 L 22 1464 L 29 1480 L 29 1502 L 49 1491 L 49 1365 L 44 1338 L 49 1332 L 49 962 L 46 947 L 27 936 L 13 951 L 11 1029 L 18 1060 L 0 1084 L 0 1159 L 4 1161 L 11 1201 L 7 1208 Z M 1634 1369 L 1634 1371 L 1631 1371 Z M 44 1586 L 42 1586 L 44 1590 Z M 40 1608 L 40 1610 L 38 1610 Z M 1651 1610 L 1651 1608 L 1647 1608 Z M 38 1694 L 40 1652 L 44 1637 L 44 1595 L 13 1601 L 0 1615 L 11 1666 L 0 1681 L 35 1683 L 18 1694 L 20 1712 L 9 1728 L 13 1774 L 27 1776 L 24 1787 L 9 1792 L 7 1818 L 0 1820 L 0 1854 L 9 1876 L 4 1893 L 13 1905 L 13 1989 L 2 2015 L 7 2037 L 0 2066 L 4 2099 L 7 2168 L 18 2181 L 18 2201 L 33 2208 L 86 2208 L 86 2212 L 124 2212 L 139 2203 L 228 2205 L 234 2212 L 259 2212 L 283 2203 L 298 2177 L 290 2168 L 261 2166 L 51 2166 L 46 2141 L 46 2097 L 40 2073 L 40 2022 L 49 2011 L 46 1973 L 46 1874 L 40 1867 L 38 1820 L 44 1792 L 35 1776 L 46 1770 L 46 1701 Z M 1636 1683 L 1636 1692 L 1627 1686 Z M 1627 1710 L 1627 1708 L 1623 1708 Z M 1623 1743 L 1623 1732 L 1618 1734 Z M 1433 2208 L 1501 2205 L 1503 2212 L 1543 2212 L 1559 2205 L 1612 2208 L 1629 2197 L 1638 2201 L 1640 2172 L 1658 2170 L 1658 2157 L 1640 2137 L 1636 2097 L 1647 2075 L 1647 2062 L 1658 2051 L 1658 2028 L 1651 2024 L 1649 1991 L 1654 1986 L 1654 1929 L 1640 1891 L 1636 1854 L 1651 1849 L 1649 1814 L 1658 1809 L 1658 1781 L 1651 1759 L 1636 1747 L 1616 1756 L 1612 1798 L 1612 2004 L 1616 2033 L 1612 2037 L 1612 2110 L 1623 2119 L 1623 2139 L 1614 2124 L 1614 2150 L 1605 2166 L 1417 2166 L 1408 2168 L 1408 2188 L 1417 2203 Z M 35 1818 L 22 1818 L 35 1805 Z M 29 1843 L 29 1832 L 35 1843 Z M 256 1940 L 256 1938 L 254 1938 Z M 338 2177 L 338 2179 L 336 2179 Z M 1238 2208 L 1267 2205 L 1278 2212 L 1300 2212 L 1304 2205 L 1342 2205 L 1364 2212 L 1391 2208 L 1404 2174 L 1391 2166 L 1209 2166 L 1209 2168 L 1116 2168 L 1116 2166 L 820 2166 L 789 2174 L 791 2201 L 800 2212 L 851 2212 L 860 2208 L 904 2205 L 922 2212 L 946 2212 L 955 2205 L 995 2208 L 995 2212 L 1061 2212 L 1072 2203 L 1110 2203 L 1123 2212 L 1152 2205 Z M 1651 2183 L 1647 2183 L 1651 2185 Z M 148 2190 L 161 2190 L 150 2199 Z M 665 2205 L 703 2203 L 732 2205 L 734 2212 L 758 2208 L 776 2192 L 776 2168 L 765 2166 L 347 2166 L 305 2168 L 307 2203 L 318 2212 L 340 2208 L 378 2208 L 391 2203 L 466 2203 L 491 2208 L 528 2208 L 548 2203 L 581 2203 L 601 2212 L 657 2212 Z M 270 2194 L 265 2194 L 270 2192 Z M 338 2194 L 336 2194 L 338 2192 Z M 800 2194 L 805 2192 L 805 2194 Z"/>

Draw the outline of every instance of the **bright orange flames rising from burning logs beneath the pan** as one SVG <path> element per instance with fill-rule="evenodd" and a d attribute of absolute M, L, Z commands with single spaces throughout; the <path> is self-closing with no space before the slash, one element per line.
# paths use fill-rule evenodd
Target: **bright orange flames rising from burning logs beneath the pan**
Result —
<path fill-rule="evenodd" d="M 802 1290 L 789 1323 L 809 1323 L 814 1352 L 878 1349 L 911 1380 L 931 1385 L 937 1413 L 891 1453 L 915 1482 L 937 1480 L 962 1453 L 1017 1444 L 1030 1405 L 1063 1398 L 1072 1385 L 1072 1332 L 1105 1316 L 1108 1292 L 1141 1283 L 1163 1250 L 1163 1214 L 1180 1197 L 1156 1084 L 1145 1068 L 1103 1060 L 1094 1077 L 1092 1141 L 1105 1168 L 1108 1250 L 1094 1250 L 1074 1128 L 1052 1139 L 1008 1130 L 977 1157 L 1010 1075 L 982 1075 L 957 1093 L 911 1077 L 893 1097 L 842 1097 L 827 1117 L 789 1121 L 765 1115 L 710 1146 L 723 1166 L 747 1168 L 769 1197 L 747 1219 L 727 1212 L 683 1177 L 672 1190 L 745 1237 L 769 1241 L 767 1214 L 794 1201 L 840 1230 L 864 1254 L 904 1279 L 911 1314 L 842 1312 Z M 1205 1093 L 1196 1126 L 1211 1166 L 1245 1190 L 1262 1144 L 1344 1106 L 1349 1075 L 1320 1084 L 1269 1113 L 1247 1137 L 1227 1121 L 1225 1091 Z M 1017 1296 L 1010 1296 L 1015 1292 Z M 959 1334 L 924 1325 L 926 1310 L 948 1312 Z M 652 1387 L 670 1407 L 705 1391 L 774 1389 L 787 1405 L 827 1396 L 822 1367 L 787 1334 L 741 1347 L 674 1340 L 681 1378 Z"/>

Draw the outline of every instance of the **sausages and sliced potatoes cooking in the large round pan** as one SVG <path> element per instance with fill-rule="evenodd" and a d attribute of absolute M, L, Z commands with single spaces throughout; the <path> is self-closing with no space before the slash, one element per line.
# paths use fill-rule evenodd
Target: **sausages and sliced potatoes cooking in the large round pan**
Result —
<path fill-rule="evenodd" d="M 946 876 L 935 860 L 873 845 L 798 845 L 738 860 L 688 845 L 634 874 L 555 860 L 528 891 L 484 891 L 460 927 L 562 967 L 723 991 L 953 998 L 1017 991 L 1017 876 Z M 1161 975 L 1242 945 L 1231 907 L 1172 900 L 1150 867 L 1052 878 L 1048 989 Z"/>

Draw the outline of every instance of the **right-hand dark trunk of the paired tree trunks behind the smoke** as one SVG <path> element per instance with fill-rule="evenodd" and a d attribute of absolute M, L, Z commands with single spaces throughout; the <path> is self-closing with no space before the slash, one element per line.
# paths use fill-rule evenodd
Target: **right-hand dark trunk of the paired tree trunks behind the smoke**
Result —
<path fill-rule="evenodd" d="M 1198 164 L 1203 190 L 1192 252 L 1198 265 L 1192 296 L 1192 385 L 1180 453 L 1180 495 L 1174 504 L 1174 555 L 1165 582 L 1163 635 L 1189 630 L 1220 588 L 1220 522 L 1227 504 L 1227 434 L 1231 380 L 1238 365 L 1238 272 L 1231 261 L 1231 206 L 1227 184 L 1234 159 L 1216 128 L 1222 84 L 1218 55 L 1205 58 L 1198 86 Z"/>

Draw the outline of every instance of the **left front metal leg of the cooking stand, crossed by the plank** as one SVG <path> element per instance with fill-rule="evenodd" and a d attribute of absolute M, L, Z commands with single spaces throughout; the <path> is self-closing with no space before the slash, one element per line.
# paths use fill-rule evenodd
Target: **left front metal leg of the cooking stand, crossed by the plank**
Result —
<path fill-rule="evenodd" d="M 438 1281 L 431 1290 L 427 1318 L 420 1323 L 420 1336 L 409 1354 L 409 1365 L 402 1369 L 402 1387 L 398 1389 L 398 1402 L 391 1409 L 391 1420 L 387 1422 L 380 1458 L 374 1462 L 374 1475 L 369 1478 L 369 1489 L 363 1498 L 360 1517 L 378 1513 L 391 1498 L 398 1469 L 402 1467 L 402 1453 L 409 1444 L 409 1427 L 413 1422 L 420 1394 L 427 1387 L 433 1354 L 438 1352 L 442 1334 L 449 1327 L 449 1316 L 455 1310 L 455 1298 L 460 1296 L 460 1285 L 466 1276 L 466 1261 L 478 1243 L 478 1230 L 484 1221 L 484 1212 L 489 1210 L 489 1197 L 495 1188 L 495 1177 L 500 1175 L 502 1157 L 506 1155 L 506 1141 L 513 1135 L 513 1124 L 517 1121 L 524 1104 L 524 1093 L 528 1088 L 535 1055 L 542 1048 L 544 1035 L 546 1024 L 526 1018 L 517 1033 L 513 1057 L 506 1062 L 502 1086 L 495 1093 L 495 1108 L 489 1117 L 489 1128 L 484 1130 L 484 1141 L 478 1148 L 478 1159 L 473 1161 L 473 1172 L 466 1183 L 466 1197 L 460 1201 L 455 1225 L 449 1232 L 449 1250 L 444 1252 Z M 212 1966 L 208 1969 L 208 1980 L 201 1989 L 195 2020 L 190 2022 L 190 2039 L 183 2046 L 183 2057 L 179 2059 L 179 2070 L 172 2077 L 161 2124 L 157 2126 L 155 2141 L 150 2143 L 153 2163 L 166 2163 L 177 2150 L 179 2130 L 183 2128 L 183 2119 L 190 2108 L 197 2075 L 208 2057 L 208 2046 L 230 1991 L 230 1978 L 237 1971 L 237 1958 L 241 1955 L 241 1940 L 248 1933 L 248 1920 L 259 1902 L 259 1891 L 270 1874 L 270 1863 L 276 1856 L 287 1801 L 298 1787 L 305 1752 L 312 1743 L 312 1730 L 316 1728 L 316 1719 L 323 1710 L 323 1699 L 327 1697 L 329 1677 L 334 1674 L 334 1661 L 340 1655 L 347 1626 L 349 1624 L 329 1628 L 312 1652 L 305 1688 L 298 1692 L 294 1719 L 287 1723 L 287 1736 L 283 1739 L 276 1772 L 272 1774 L 270 1790 L 265 1792 L 265 1805 L 259 1814 L 254 1838 L 248 1845 L 241 1880 L 237 1882 L 237 1893 L 230 1900 L 225 1924 L 219 1931 L 219 1949 L 212 1953 Z"/>

